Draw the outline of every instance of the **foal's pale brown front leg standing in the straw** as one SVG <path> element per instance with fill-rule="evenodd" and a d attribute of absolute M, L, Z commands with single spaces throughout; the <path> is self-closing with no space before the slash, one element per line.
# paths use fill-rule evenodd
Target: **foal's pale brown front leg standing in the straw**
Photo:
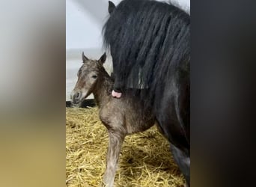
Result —
<path fill-rule="evenodd" d="M 109 132 L 109 147 L 106 157 L 106 171 L 103 178 L 105 186 L 114 186 L 115 171 L 118 166 L 118 158 L 125 135 L 121 132 Z"/>

